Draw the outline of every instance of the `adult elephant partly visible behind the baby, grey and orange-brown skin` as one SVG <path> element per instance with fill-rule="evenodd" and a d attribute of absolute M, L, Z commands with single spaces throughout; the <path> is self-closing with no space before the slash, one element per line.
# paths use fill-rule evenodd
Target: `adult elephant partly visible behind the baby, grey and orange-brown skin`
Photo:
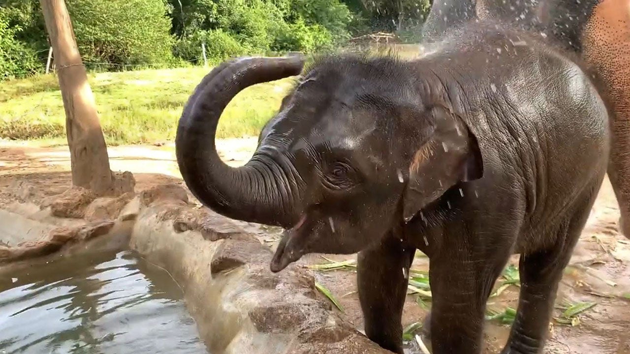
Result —
<path fill-rule="evenodd" d="M 597 69 L 612 113 L 608 168 L 630 238 L 630 0 L 436 0 L 423 28 L 424 41 L 471 20 L 496 20 L 547 36 Z"/>

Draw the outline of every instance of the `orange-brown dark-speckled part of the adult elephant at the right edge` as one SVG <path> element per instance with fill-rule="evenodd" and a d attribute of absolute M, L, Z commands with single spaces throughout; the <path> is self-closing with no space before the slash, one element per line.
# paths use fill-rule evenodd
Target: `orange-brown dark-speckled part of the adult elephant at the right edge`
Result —
<path fill-rule="evenodd" d="M 583 42 L 584 56 L 604 79 L 614 111 L 608 176 L 619 203 L 621 232 L 630 238 L 630 0 L 597 4 Z"/>

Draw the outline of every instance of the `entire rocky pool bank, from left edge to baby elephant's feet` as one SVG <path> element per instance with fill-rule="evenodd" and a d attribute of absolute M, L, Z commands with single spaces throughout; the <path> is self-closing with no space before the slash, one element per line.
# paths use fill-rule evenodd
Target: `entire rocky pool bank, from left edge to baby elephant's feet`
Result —
<path fill-rule="evenodd" d="M 81 193 L 67 192 L 66 199 L 79 203 Z M 186 307 L 212 354 L 389 353 L 344 321 L 306 270 L 292 266 L 271 273 L 272 251 L 251 226 L 197 207 L 176 183 L 127 195 L 125 203 L 98 198 L 84 203 L 74 217 L 55 216 L 54 205 L 33 200 L 0 210 L 5 266 L 26 265 L 34 257 L 72 256 L 73 250 L 95 243 L 128 246 L 183 288 Z M 101 218 L 90 217 L 96 214 Z"/>

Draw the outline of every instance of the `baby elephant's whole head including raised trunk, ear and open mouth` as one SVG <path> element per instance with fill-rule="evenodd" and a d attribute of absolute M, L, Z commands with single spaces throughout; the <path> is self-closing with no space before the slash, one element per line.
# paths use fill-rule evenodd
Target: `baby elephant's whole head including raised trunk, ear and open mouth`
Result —
<path fill-rule="evenodd" d="M 248 58 L 214 69 L 186 103 L 176 154 L 188 188 L 233 219 L 286 229 L 280 271 L 306 253 L 350 254 L 378 243 L 459 181 L 479 178 L 467 125 L 423 102 L 410 67 L 391 58 L 316 61 L 261 132 L 251 160 L 221 161 L 215 130 L 241 89 L 294 76 L 303 59 Z"/>

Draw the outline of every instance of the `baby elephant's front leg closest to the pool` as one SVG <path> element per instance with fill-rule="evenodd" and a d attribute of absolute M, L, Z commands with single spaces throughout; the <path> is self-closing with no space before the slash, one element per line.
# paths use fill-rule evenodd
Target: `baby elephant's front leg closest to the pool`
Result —
<path fill-rule="evenodd" d="M 416 249 L 387 235 L 375 248 L 358 254 L 358 297 L 370 340 L 403 354 L 404 299 Z"/>

